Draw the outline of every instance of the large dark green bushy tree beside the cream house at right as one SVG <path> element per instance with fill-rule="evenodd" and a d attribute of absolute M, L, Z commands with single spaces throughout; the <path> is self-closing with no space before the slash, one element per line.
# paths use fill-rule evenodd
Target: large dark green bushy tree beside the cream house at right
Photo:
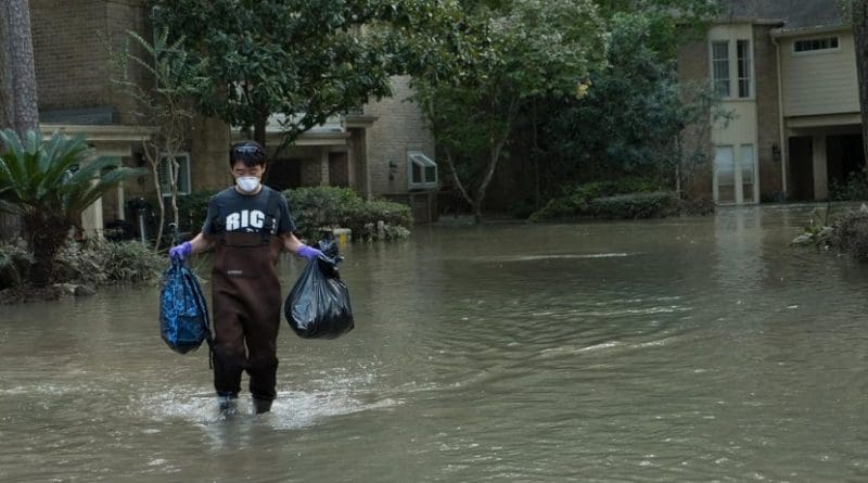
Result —
<path fill-rule="evenodd" d="M 679 82 L 652 27 L 643 13 L 613 14 L 608 63 L 591 74 L 587 94 L 542 104 L 544 191 L 613 175 L 674 182 L 681 134 L 707 119 L 713 98 L 705 86 Z"/>

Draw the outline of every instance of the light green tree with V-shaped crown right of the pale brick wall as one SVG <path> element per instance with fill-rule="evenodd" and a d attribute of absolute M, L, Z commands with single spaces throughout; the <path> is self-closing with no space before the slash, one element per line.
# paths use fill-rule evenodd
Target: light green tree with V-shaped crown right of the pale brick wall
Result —
<path fill-rule="evenodd" d="M 460 75 L 433 65 L 416 78 L 416 100 L 441 145 L 452 181 L 477 221 L 497 165 L 524 106 L 573 96 L 605 55 L 590 0 L 464 2 L 468 28 Z"/>

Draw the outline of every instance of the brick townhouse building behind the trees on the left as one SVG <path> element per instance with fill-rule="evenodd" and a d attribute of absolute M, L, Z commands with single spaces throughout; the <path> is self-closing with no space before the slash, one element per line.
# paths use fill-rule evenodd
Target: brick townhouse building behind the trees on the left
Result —
<path fill-rule="evenodd" d="M 107 39 L 117 42 L 126 30 L 149 31 L 144 1 L 30 0 L 30 23 L 43 134 L 80 134 L 95 156 L 143 165 L 141 143 L 154 129 L 140 124 L 131 100 L 113 88 Z M 417 189 L 424 192 L 436 187 L 436 178 L 434 183 L 413 182 L 414 178 L 419 181 L 419 160 L 433 164 L 434 142 L 419 110 L 405 102 L 407 85 L 406 78 L 396 78 L 393 98 L 304 134 L 272 158 L 266 181 L 278 189 L 344 186 L 367 199 L 405 201 Z M 271 148 L 280 144 L 277 124 L 272 127 L 268 132 Z M 228 186 L 227 153 L 240 139 L 238 130 L 201 117 L 191 123 L 188 138 L 179 156 L 181 192 Z M 423 181 L 430 177 L 431 170 L 422 171 Z M 86 213 L 86 228 L 99 232 L 105 223 L 128 217 L 127 201 L 153 198 L 152 186 L 153 180 L 142 178 L 104 196 Z"/>

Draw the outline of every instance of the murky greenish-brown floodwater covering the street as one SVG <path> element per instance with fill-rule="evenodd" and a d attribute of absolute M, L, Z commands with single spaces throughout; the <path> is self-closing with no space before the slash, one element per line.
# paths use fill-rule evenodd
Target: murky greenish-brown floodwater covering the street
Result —
<path fill-rule="evenodd" d="M 789 247 L 808 211 L 352 245 L 356 329 L 282 322 L 258 417 L 154 288 L 0 307 L 0 481 L 866 481 L 868 265 Z"/>

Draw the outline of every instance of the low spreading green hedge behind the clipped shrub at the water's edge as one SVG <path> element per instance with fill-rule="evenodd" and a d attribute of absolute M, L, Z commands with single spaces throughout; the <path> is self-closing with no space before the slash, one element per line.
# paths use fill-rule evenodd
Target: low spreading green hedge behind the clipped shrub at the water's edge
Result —
<path fill-rule="evenodd" d="M 618 194 L 653 192 L 660 186 L 641 178 L 622 178 L 611 181 L 595 181 L 570 187 L 561 196 L 553 198 L 528 218 L 529 221 L 545 221 L 558 218 L 574 218 L 592 215 L 590 202 L 598 198 Z"/>

